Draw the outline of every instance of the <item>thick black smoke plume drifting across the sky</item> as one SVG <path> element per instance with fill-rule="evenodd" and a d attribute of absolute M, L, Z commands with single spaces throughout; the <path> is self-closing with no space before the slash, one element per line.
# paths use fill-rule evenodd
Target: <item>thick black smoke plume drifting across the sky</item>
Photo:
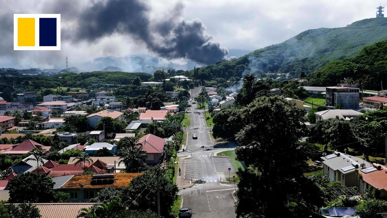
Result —
<path fill-rule="evenodd" d="M 65 30 L 63 38 L 94 42 L 118 33 L 144 42 L 147 49 L 166 59 L 185 58 L 200 64 L 228 61 L 228 49 L 212 41 L 199 19 L 182 19 L 182 10 L 183 5 L 178 3 L 168 16 L 151 20 L 151 8 L 144 1 L 94 1 L 80 12 L 77 26 Z"/>

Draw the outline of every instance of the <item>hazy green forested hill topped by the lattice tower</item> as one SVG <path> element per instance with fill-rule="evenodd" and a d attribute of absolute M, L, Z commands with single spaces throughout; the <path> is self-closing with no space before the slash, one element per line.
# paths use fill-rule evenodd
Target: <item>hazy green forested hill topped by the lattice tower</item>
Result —
<path fill-rule="evenodd" d="M 195 77 L 241 76 L 243 71 L 235 70 L 240 64 L 248 66 L 253 73 L 281 71 L 297 76 L 302 71 L 312 73 L 332 60 L 354 57 L 364 46 L 382 40 L 387 40 L 387 18 L 364 19 L 342 28 L 309 29 L 233 61 L 201 67 Z M 187 74 L 193 75 L 194 70 Z"/>

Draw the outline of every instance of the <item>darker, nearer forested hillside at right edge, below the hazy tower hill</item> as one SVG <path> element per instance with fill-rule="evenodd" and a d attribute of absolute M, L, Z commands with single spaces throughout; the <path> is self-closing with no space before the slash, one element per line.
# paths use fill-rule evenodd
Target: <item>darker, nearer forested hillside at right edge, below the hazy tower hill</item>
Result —
<path fill-rule="evenodd" d="M 311 86 L 336 85 L 344 78 L 356 81 L 357 64 L 366 64 L 369 72 L 365 76 L 365 89 L 379 90 L 382 81 L 387 81 L 387 40 L 364 47 L 356 57 L 334 60 L 309 75 Z"/>

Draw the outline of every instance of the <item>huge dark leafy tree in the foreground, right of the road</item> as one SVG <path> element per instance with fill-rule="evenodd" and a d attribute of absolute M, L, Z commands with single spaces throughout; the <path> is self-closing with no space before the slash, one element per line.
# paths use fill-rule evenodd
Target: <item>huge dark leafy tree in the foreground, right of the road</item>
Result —
<path fill-rule="evenodd" d="M 262 97 L 242 109 L 238 119 L 244 126 L 237 133 L 242 146 L 236 157 L 258 173 L 238 170 L 236 214 L 307 217 L 322 206 L 319 188 L 303 176 L 307 155 L 299 139 L 305 132 L 305 111 L 279 96 Z"/>

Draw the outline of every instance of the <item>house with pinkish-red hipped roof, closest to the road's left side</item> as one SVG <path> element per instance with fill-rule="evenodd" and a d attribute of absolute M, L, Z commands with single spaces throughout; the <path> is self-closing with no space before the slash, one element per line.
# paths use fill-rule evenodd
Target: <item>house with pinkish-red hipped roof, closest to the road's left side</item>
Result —
<path fill-rule="evenodd" d="M 147 163 L 148 164 L 158 164 L 161 161 L 163 156 L 163 149 L 166 140 L 164 138 L 157 137 L 156 135 L 148 134 L 145 135 L 139 140 L 138 143 L 142 144 L 142 151 L 147 152 Z"/>

